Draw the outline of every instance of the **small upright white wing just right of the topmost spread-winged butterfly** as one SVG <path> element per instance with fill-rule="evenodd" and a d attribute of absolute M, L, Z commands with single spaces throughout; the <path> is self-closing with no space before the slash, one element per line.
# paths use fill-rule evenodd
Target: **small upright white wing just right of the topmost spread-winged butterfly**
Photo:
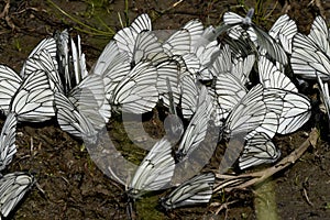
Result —
<path fill-rule="evenodd" d="M 293 52 L 293 38 L 297 34 L 297 25 L 287 14 L 279 16 L 270 30 L 270 35 L 283 46 L 288 54 Z"/>

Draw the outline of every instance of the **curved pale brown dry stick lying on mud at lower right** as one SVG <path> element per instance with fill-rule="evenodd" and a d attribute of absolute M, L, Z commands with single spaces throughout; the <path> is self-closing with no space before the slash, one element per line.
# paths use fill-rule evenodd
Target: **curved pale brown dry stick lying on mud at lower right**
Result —
<path fill-rule="evenodd" d="M 246 189 L 248 187 L 251 187 L 253 185 L 257 185 L 262 182 L 264 182 L 266 178 L 271 177 L 275 173 L 288 167 L 290 164 L 294 164 L 300 156 L 306 152 L 306 150 L 312 145 L 316 146 L 317 140 L 318 140 L 318 131 L 316 128 L 311 130 L 309 133 L 309 138 L 294 152 L 292 152 L 288 156 L 283 158 L 280 162 L 275 164 L 274 166 L 266 168 L 261 172 L 254 172 L 249 174 L 241 174 L 238 176 L 232 175 L 221 175 L 216 174 L 216 177 L 219 178 L 218 183 L 216 183 L 215 193 L 217 191 L 231 191 L 232 189 Z M 239 183 L 242 182 L 242 184 L 235 184 L 234 186 L 226 187 L 226 183 Z"/>

